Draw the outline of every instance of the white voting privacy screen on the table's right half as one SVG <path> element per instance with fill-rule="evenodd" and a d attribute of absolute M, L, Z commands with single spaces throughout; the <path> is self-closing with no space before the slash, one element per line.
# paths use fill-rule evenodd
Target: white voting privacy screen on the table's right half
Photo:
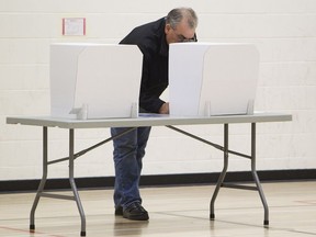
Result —
<path fill-rule="evenodd" d="M 253 44 L 171 44 L 170 114 L 252 114 L 258 75 L 259 53 Z"/>

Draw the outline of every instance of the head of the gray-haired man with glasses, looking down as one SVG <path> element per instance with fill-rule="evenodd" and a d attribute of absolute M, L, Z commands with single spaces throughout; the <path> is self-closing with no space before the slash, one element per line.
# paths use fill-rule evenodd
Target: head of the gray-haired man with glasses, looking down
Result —
<path fill-rule="evenodd" d="M 168 44 L 178 42 L 194 42 L 198 16 L 191 8 L 177 8 L 166 18 L 166 41 Z"/>

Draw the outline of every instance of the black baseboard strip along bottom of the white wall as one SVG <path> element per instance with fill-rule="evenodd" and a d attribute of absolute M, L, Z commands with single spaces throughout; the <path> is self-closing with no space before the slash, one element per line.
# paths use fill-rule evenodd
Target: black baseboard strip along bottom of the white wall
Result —
<path fill-rule="evenodd" d="M 183 173 L 183 174 L 157 174 L 143 176 L 140 187 L 166 187 L 166 185 L 193 185 L 214 184 L 219 173 Z M 260 181 L 307 181 L 316 180 L 316 169 L 302 170 L 267 170 L 258 171 Z M 37 190 L 41 180 L 9 180 L 0 181 L 0 192 L 33 192 Z M 225 182 L 251 182 L 251 172 L 227 172 Z M 89 177 L 77 178 L 78 189 L 104 189 L 113 188 L 114 177 Z M 48 179 L 45 190 L 68 190 L 68 179 Z"/>

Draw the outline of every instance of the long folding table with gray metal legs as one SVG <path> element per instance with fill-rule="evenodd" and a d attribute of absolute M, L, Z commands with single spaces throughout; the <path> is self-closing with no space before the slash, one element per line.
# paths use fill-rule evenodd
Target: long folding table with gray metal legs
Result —
<path fill-rule="evenodd" d="M 266 123 L 266 122 L 285 122 L 292 121 L 291 114 L 283 113 L 267 113 L 267 112 L 256 112 L 251 115 L 225 115 L 225 116 L 210 116 L 210 117 L 174 117 L 169 115 L 156 115 L 156 114 L 140 114 L 137 119 L 105 119 L 105 120 L 70 120 L 70 119 L 58 119 L 50 116 L 30 116 L 30 117 L 7 117 L 8 124 L 22 124 L 22 125 L 31 125 L 31 126 L 42 126 L 43 127 L 43 177 L 31 210 L 30 214 L 30 232 L 34 232 L 35 229 L 35 210 L 38 204 L 41 196 L 53 198 L 53 199 L 63 199 L 63 200 L 72 200 L 76 201 L 79 214 L 81 217 L 81 232 L 80 236 L 86 236 L 86 215 L 81 205 L 81 201 L 79 198 L 79 193 L 76 187 L 74 170 L 75 170 L 75 159 L 82 156 L 83 154 L 108 143 L 112 139 L 115 139 L 119 136 L 122 136 L 125 133 L 135 129 L 135 127 L 140 126 L 166 126 L 176 132 L 179 132 L 185 136 L 198 139 L 202 143 L 205 143 L 210 146 L 219 149 L 224 154 L 224 168 L 219 174 L 215 191 L 211 199 L 210 204 L 210 218 L 215 219 L 215 200 L 218 194 L 218 191 L 222 187 L 227 188 L 236 188 L 236 189 L 245 189 L 245 190 L 255 190 L 258 191 L 263 208 L 264 208 L 264 219 L 263 225 L 269 225 L 269 207 L 264 198 L 263 190 L 260 184 L 260 180 L 256 170 L 256 124 L 257 123 Z M 250 124 L 250 136 L 251 136 L 251 150 L 250 155 L 241 154 L 238 151 L 234 151 L 228 148 L 228 125 L 229 124 Z M 188 133 L 176 125 L 211 125 L 211 124 L 223 124 L 224 125 L 224 143 L 223 146 L 218 144 L 214 144 L 210 140 L 201 138 L 194 134 Z M 69 157 L 48 160 L 47 151 L 48 151 L 48 127 L 59 127 L 69 131 Z M 115 136 L 109 137 L 87 149 L 75 153 L 75 129 L 81 128 L 106 128 L 106 127 L 126 127 L 126 132 Z M 233 154 L 236 156 L 240 156 L 242 158 L 250 159 L 251 163 L 251 173 L 255 180 L 256 185 L 242 185 L 242 184 L 232 184 L 225 183 L 225 176 L 228 168 L 228 155 Z M 63 194 L 54 194 L 49 192 L 45 192 L 45 183 L 47 180 L 47 171 L 48 166 L 57 162 L 61 162 L 68 160 L 69 161 L 69 181 L 74 195 L 63 195 Z"/>

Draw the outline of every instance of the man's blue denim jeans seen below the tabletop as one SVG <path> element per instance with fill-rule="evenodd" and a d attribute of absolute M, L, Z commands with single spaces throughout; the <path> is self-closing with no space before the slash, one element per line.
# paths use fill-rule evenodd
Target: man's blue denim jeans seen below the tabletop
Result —
<path fill-rule="evenodd" d="M 129 127 L 111 128 L 115 136 Z M 136 129 L 113 139 L 113 157 L 115 166 L 114 204 L 127 207 L 134 202 L 142 203 L 139 194 L 139 179 L 143 168 L 143 157 L 151 127 L 137 127 Z"/>

